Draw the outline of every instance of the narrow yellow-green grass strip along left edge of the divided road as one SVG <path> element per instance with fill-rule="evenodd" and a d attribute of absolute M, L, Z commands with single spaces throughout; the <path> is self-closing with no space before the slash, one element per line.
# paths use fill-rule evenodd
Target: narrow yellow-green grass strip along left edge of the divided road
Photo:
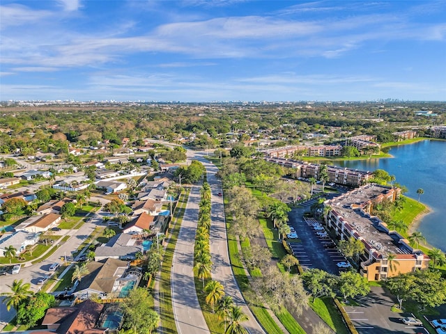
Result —
<path fill-rule="evenodd" d="M 176 241 L 180 232 L 181 222 L 189 197 L 190 189 L 185 189 L 183 195 L 178 199 L 178 204 L 174 210 L 174 218 L 171 222 L 169 243 L 167 244 L 164 257 L 162 259 L 162 267 L 160 274 L 160 317 L 163 333 L 178 333 L 174 319 L 174 309 L 172 307 L 171 294 L 171 268 L 174 259 Z"/>

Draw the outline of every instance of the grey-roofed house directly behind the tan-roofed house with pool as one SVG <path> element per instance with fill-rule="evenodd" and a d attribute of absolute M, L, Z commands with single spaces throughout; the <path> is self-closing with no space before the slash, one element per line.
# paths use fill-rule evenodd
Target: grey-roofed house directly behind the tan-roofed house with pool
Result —
<path fill-rule="evenodd" d="M 110 238 L 104 246 L 95 249 L 95 260 L 101 261 L 108 258 L 134 260 L 136 253 L 142 250 L 142 246 L 137 244 L 136 239 L 132 239 L 132 235 L 120 233 Z"/>

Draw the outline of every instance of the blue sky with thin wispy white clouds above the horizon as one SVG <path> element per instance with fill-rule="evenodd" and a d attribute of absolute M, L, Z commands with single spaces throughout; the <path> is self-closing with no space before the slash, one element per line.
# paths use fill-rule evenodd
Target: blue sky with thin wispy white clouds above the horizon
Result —
<path fill-rule="evenodd" d="M 8 1 L 0 100 L 446 100 L 446 1 Z"/>

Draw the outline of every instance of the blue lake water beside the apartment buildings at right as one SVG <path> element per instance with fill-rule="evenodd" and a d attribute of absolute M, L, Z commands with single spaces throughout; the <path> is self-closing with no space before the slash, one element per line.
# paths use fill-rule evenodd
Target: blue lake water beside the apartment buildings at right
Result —
<path fill-rule="evenodd" d="M 417 228 L 432 246 L 446 252 L 446 142 L 420 141 L 400 145 L 389 151 L 394 158 L 357 161 L 336 161 L 336 166 L 373 171 L 386 170 L 397 182 L 408 188 L 405 194 L 418 199 L 417 189 L 423 189 L 420 201 L 431 212 Z"/>

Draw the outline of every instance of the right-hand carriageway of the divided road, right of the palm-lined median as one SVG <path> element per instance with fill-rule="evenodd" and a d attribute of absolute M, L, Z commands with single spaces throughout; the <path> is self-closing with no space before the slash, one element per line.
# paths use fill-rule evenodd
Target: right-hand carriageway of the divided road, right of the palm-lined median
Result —
<path fill-rule="evenodd" d="M 229 250 L 226 237 L 226 226 L 224 219 L 223 198 L 217 196 L 222 192 L 222 185 L 220 180 L 217 180 L 215 173 L 218 169 L 214 164 L 210 164 L 207 160 L 195 157 L 201 161 L 206 167 L 208 183 L 212 193 L 212 209 L 210 225 L 210 253 L 213 260 L 213 279 L 218 280 L 224 286 L 224 292 L 232 296 L 233 301 L 241 306 L 245 315 L 249 317 L 249 321 L 243 322 L 243 327 L 247 328 L 249 333 L 266 333 L 257 322 L 251 310 L 246 305 L 242 293 L 236 283 L 236 278 L 233 275 L 231 262 L 229 261 Z"/>

